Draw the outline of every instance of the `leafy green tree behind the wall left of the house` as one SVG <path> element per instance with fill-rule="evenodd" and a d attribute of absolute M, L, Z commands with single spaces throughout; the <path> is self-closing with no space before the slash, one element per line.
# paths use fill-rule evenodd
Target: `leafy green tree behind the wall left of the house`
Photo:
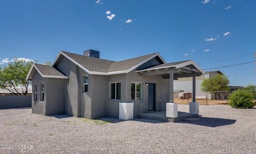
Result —
<path fill-rule="evenodd" d="M 26 80 L 29 69 L 34 61 L 15 58 L 6 66 L 0 68 L 0 88 L 12 92 L 14 95 L 27 95 L 30 82 Z M 22 92 L 18 91 L 22 88 Z"/>

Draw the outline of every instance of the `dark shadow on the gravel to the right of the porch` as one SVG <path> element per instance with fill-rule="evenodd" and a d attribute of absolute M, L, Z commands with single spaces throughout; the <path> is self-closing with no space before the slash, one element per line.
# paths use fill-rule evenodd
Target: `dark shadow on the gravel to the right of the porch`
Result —
<path fill-rule="evenodd" d="M 194 121 L 194 122 L 180 121 L 179 123 L 206 126 L 206 127 L 220 127 L 220 126 L 235 124 L 236 120 L 225 119 L 225 118 L 201 117 L 200 120 L 198 121 Z"/>

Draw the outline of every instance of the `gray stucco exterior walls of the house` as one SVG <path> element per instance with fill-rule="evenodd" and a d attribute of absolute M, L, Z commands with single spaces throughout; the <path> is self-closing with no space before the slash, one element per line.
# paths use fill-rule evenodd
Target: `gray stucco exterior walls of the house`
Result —
<path fill-rule="evenodd" d="M 140 69 L 159 64 L 158 59 L 150 60 L 140 66 Z M 117 75 L 89 75 L 88 92 L 83 92 L 83 76 L 86 71 L 79 68 L 64 56 L 61 56 L 55 66 L 67 79 L 42 78 L 37 72 L 33 76 L 33 83 L 45 84 L 45 101 L 33 102 L 33 112 L 41 115 L 62 114 L 70 116 L 97 119 L 101 117 L 119 117 L 119 102 L 134 103 L 134 117 L 148 111 L 148 86 L 146 83 L 156 84 L 155 111 L 166 110 L 169 102 L 169 79 L 161 75 L 141 76 L 134 69 L 127 74 Z M 121 82 L 121 100 L 110 100 L 110 83 Z M 131 100 L 131 83 L 142 83 L 142 100 Z M 68 88 L 68 92 L 67 92 Z M 39 90 L 39 86 L 38 86 Z M 39 91 L 38 91 L 39 99 Z"/>

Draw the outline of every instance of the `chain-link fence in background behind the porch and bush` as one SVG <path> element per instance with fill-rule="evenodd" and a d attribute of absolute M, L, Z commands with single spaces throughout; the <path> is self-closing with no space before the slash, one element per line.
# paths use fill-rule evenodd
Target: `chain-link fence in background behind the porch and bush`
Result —
<path fill-rule="evenodd" d="M 228 104 L 229 95 L 234 91 L 214 91 L 214 92 L 196 92 L 196 102 L 201 105 Z M 256 91 L 253 93 L 256 100 Z M 179 104 L 189 104 L 192 102 L 192 92 L 174 92 L 174 102 Z"/>

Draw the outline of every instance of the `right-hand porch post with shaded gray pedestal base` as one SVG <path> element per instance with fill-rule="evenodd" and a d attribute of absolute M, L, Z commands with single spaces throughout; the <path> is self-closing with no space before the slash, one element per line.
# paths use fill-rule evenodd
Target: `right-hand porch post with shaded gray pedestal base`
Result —
<path fill-rule="evenodd" d="M 196 102 L 196 77 L 193 76 L 193 92 L 192 99 L 193 101 L 189 103 L 189 113 L 190 114 L 199 114 L 199 103 Z"/>

